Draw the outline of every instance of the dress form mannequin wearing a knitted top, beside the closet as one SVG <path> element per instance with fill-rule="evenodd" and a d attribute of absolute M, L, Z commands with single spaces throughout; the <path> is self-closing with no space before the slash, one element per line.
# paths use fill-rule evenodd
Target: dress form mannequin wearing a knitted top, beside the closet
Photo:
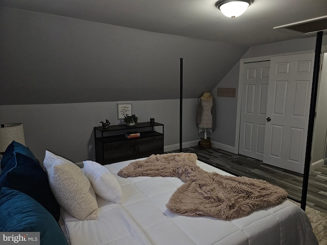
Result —
<path fill-rule="evenodd" d="M 210 92 L 204 92 L 199 99 L 196 123 L 199 134 L 203 134 L 203 139 L 207 139 L 208 135 L 216 129 L 216 105 Z"/>

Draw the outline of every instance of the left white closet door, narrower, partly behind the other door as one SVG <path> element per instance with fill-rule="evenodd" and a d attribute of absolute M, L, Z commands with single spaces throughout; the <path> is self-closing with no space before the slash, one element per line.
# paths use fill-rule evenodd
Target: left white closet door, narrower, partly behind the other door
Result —
<path fill-rule="evenodd" d="M 263 160 L 270 61 L 244 64 L 239 154 Z"/>

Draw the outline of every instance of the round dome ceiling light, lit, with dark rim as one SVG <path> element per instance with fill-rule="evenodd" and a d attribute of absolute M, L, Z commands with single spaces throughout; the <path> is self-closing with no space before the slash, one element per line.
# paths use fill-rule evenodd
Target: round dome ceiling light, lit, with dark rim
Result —
<path fill-rule="evenodd" d="M 227 17 L 235 19 L 245 12 L 254 0 L 219 0 L 215 6 Z"/>

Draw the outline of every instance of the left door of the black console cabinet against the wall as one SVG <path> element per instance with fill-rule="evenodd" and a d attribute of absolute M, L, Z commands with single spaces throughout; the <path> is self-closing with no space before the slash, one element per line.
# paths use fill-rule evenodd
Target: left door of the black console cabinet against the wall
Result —
<path fill-rule="evenodd" d="M 135 140 L 124 140 L 104 145 L 104 164 L 136 158 Z"/>

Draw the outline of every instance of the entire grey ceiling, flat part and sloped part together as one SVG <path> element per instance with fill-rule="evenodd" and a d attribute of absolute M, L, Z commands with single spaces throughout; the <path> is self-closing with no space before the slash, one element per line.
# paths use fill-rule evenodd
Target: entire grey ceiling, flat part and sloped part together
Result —
<path fill-rule="evenodd" d="M 198 97 L 249 47 L 303 37 L 273 27 L 326 15 L 309 2 L 255 0 L 229 19 L 208 0 L 2 0 L 0 105 L 178 99 L 179 58 Z"/>

